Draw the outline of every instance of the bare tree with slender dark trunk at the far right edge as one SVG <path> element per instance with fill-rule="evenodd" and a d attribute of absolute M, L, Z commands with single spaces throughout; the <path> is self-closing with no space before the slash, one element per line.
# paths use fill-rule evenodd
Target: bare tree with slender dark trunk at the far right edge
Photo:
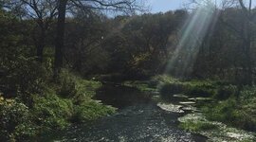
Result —
<path fill-rule="evenodd" d="M 247 4 L 247 5 L 246 5 Z M 237 9 L 237 6 L 239 9 Z M 235 17 L 227 16 L 228 10 L 223 10 L 223 15 L 221 16 L 221 22 L 233 31 L 241 41 L 239 45 L 242 54 L 240 54 L 241 67 L 243 68 L 243 76 L 241 83 L 252 84 L 254 73 L 254 62 L 252 60 L 252 42 L 255 40 L 255 17 L 256 12 L 252 9 L 252 0 L 236 0 L 229 3 L 228 7 L 225 9 L 233 9 L 233 13 L 236 12 Z M 230 13 L 230 11 L 229 11 Z M 224 18 L 225 17 L 225 18 Z"/>

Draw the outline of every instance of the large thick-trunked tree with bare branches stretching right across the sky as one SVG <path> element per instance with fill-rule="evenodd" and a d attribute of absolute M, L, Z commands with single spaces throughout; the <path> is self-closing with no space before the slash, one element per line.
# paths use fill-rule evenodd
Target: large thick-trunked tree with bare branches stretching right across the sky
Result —
<path fill-rule="evenodd" d="M 58 23 L 55 45 L 55 76 L 63 67 L 64 50 L 64 23 L 67 7 L 77 7 L 83 11 L 95 9 L 100 11 L 121 11 L 125 13 L 134 13 L 135 10 L 142 10 L 142 7 L 136 0 L 59 0 L 58 1 Z"/>

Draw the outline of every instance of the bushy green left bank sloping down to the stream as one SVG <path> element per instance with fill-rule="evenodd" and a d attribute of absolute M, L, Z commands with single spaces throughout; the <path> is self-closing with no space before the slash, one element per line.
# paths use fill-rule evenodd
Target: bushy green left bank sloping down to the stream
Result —
<path fill-rule="evenodd" d="M 92 99 L 102 85 L 100 81 L 83 80 L 64 70 L 57 81 L 46 82 L 38 94 L 27 92 L 16 98 L 0 96 L 1 140 L 27 140 L 111 115 L 116 110 Z"/>

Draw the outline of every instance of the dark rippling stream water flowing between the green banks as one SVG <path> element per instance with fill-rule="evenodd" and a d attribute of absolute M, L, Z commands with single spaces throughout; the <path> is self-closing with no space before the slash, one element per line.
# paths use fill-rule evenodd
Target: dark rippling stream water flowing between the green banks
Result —
<path fill-rule="evenodd" d="M 204 142 L 206 137 L 184 132 L 177 128 L 180 114 L 158 108 L 151 95 L 136 88 L 104 85 L 96 97 L 104 104 L 119 108 L 116 115 L 103 117 L 92 123 L 75 125 L 64 132 L 48 136 L 46 140 L 58 141 L 164 141 Z M 54 136 L 53 136 L 54 135 Z"/>

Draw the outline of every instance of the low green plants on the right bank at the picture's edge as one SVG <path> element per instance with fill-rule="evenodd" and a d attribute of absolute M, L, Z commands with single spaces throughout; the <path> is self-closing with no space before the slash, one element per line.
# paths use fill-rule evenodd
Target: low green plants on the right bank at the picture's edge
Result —
<path fill-rule="evenodd" d="M 229 98 L 217 104 L 207 105 L 203 108 L 203 111 L 210 120 L 221 121 L 235 127 L 255 131 L 256 99 L 250 98 L 249 101 L 249 103 L 246 103 L 243 100 Z"/>

